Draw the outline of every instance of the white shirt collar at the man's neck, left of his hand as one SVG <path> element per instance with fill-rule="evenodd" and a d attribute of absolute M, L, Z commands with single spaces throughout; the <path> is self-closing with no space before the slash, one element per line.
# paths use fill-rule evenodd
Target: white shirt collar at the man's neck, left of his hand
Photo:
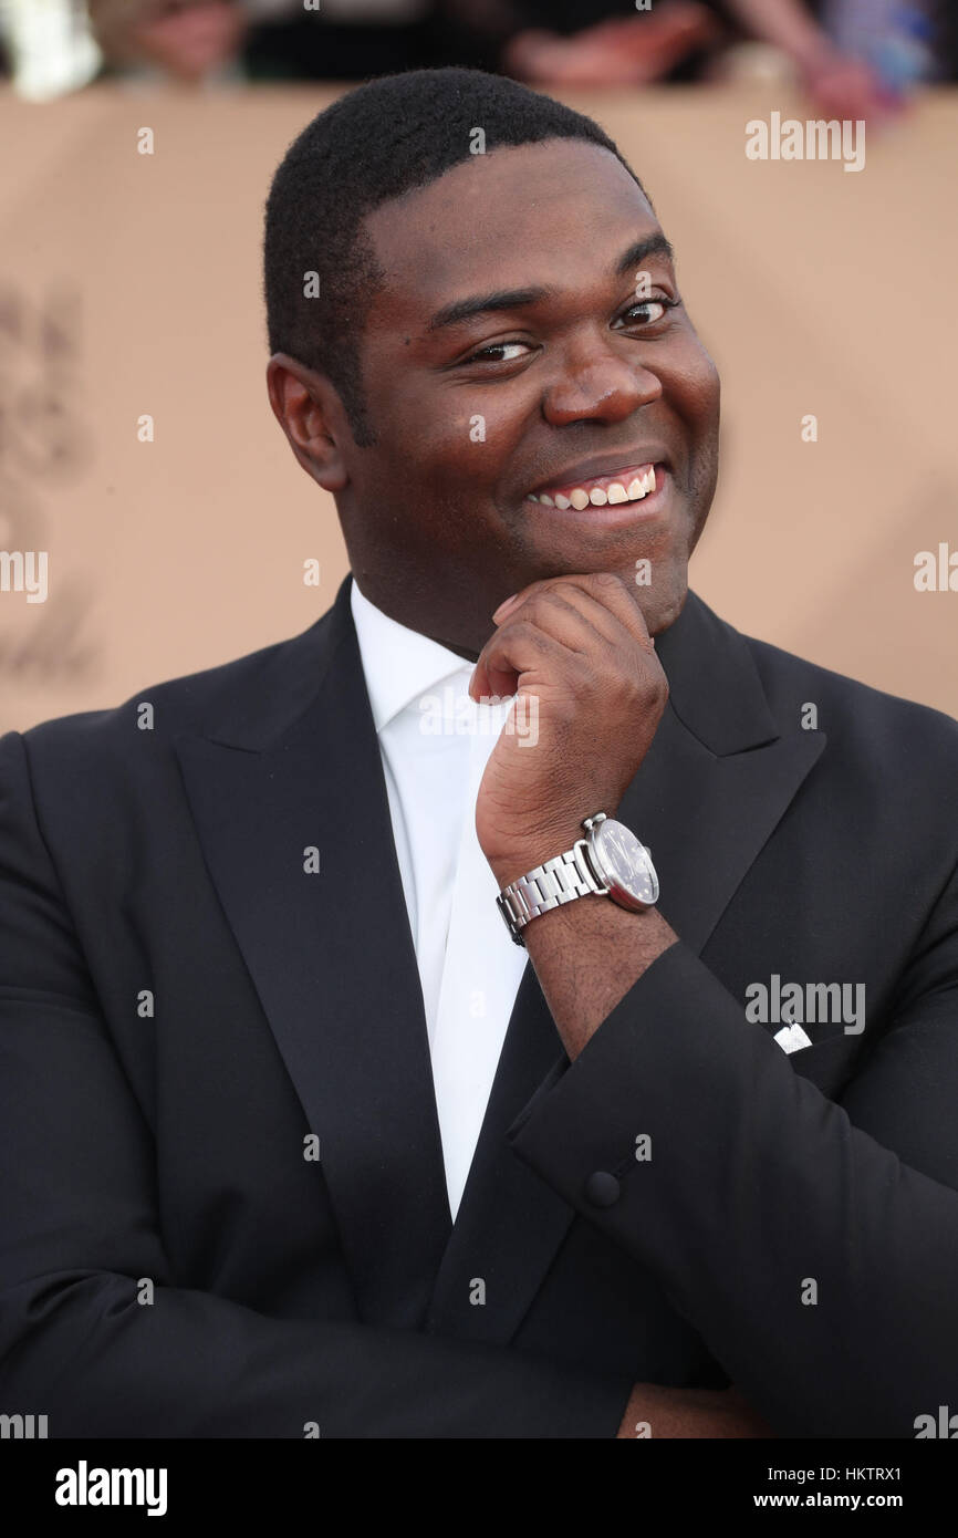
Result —
<path fill-rule="evenodd" d="M 355 577 L 349 588 L 352 621 L 377 732 L 381 732 L 412 700 L 418 700 L 454 674 L 463 675 L 463 692 L 466 692 L 474 663 L 383 614 L 360 592 Z"/>

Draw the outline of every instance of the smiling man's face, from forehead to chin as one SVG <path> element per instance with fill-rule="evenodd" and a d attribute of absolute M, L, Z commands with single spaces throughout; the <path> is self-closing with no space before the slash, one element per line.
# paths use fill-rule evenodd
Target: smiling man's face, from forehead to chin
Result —
<path fill-rule="evenodd" d="M 720 384 L 634 180 L 549 140 L 475 155 L 366 228 L 386 274 L 360 354 L 377 441 L 341 444 L 337 495 L 360 588 L 478 652 L 509 594 L 617 571 L 666 629 L 715 491 Z M 655 492 L 620 500 L 649 464 Z"/>

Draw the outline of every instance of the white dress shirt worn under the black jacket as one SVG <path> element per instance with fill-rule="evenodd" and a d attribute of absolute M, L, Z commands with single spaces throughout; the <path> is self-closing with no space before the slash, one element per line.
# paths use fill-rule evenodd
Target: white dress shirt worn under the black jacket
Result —
<path fill-rule="evenodd" d="M 512 701 L 471 700 L 474 664 L 391 620 L 355 577 L 351 604 L 423 984 L 455 1220 L 527 960 L 497 909 L 498 886 L 475 835 L 480 781 Z"/>

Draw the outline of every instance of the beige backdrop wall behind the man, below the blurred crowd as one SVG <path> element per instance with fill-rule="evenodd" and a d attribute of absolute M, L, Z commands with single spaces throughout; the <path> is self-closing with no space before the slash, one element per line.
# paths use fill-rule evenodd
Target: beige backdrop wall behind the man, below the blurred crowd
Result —
<path fill-rule="evenodd" d="M 0 551 L 49 560 L 46 603 L 0 592 L 0 729 L 120 703 L 332 601 L 335 508 L 269 411 L 260 300 L 271 172 L 329 98 L 0 95 Z M 694 586 L 746 632 L 958 712 L 958 592 L 913 584 L 918 551 L 958 551 L 958 95 L 869 138 L 858 174 L 749 161 L 749 118 L 807 115 L 769 86 L 567 100 L 649 186 L 723 374 Z"/>

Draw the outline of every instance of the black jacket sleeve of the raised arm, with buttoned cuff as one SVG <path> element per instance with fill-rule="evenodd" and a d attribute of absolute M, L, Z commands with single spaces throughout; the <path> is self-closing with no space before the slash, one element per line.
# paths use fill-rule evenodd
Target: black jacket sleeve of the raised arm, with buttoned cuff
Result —
<path fill-rule="evenodd" d="M 958 1410 L 956 1086 L 953 874 L 840 1104 L 680 941 L 509 1137 L 780 1436 L 915 1436 Z"/>

